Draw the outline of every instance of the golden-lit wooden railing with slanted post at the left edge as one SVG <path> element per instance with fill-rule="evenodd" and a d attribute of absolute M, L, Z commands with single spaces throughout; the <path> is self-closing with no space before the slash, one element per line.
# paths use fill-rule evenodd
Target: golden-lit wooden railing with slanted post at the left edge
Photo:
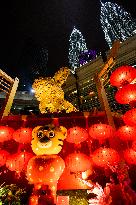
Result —
<path fill-rule="evenodd" d="M 12 79 L 10 76 L 8 76 L 5 72 L 3 72 L 0 69 L 0 91 L 6 94 L 4 103 L 0 110 L 0 120 L 4 116 L 8 116 L 10 113 L 10 109 L 12 107 L 18 83 L 18 78 Z"/>

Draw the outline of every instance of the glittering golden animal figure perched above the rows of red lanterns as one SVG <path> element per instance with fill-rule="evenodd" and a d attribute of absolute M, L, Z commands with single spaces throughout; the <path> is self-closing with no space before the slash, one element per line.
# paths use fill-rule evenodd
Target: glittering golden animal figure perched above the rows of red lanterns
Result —
<path fill-rule="evenodd" d="M 51 77 L 41 77 L 35 79 L 32 87 L 35 97 L 39 101 L 39 110 L 42 114 L 62 112 L 75 112 L 77 109 L 67 100 L 64 99 L 62 85 L 66 81 L 70 70 L 62 67 L 55 75 Z"/>

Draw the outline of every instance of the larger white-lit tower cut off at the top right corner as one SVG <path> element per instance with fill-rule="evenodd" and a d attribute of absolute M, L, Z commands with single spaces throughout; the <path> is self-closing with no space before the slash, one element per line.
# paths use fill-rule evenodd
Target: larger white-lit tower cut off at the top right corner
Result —
<path fill-rule="evenodd" d="M 100 21 L 110 48 L 115 40 L 122 42 L 136 33 L 136 21 L 116 3 L 101 2 Z"/>

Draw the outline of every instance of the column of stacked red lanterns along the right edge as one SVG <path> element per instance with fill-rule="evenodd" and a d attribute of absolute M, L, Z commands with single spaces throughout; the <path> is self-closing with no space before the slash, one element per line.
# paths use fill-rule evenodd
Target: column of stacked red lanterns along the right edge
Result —
<path fill-rule="evenodd" d="M 132 147 L 124 151 L 124 159 L 128 164 L 136 164 L 136 152 L 133 149 L 136 140 L 136 84 L 133 83 L 135 79 L 136 69 L 132 66 L 121 66 L 110 77 L 111 85 L 118 88 L 115 94 L 116 101 L 131 107 L 122 117 L 125 125 L 116 132 L 121 140 L 132 142 Z"/>

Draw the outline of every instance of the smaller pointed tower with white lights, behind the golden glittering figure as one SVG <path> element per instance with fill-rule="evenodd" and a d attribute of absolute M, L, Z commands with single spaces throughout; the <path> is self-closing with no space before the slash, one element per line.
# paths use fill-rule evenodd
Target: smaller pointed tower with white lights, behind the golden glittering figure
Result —
<path fill-rule="evenodd" d="M 79 55 L 82 51 L 87 50 L 87 47 L 82 33 L 75 27 L 70 35 L 69 42 L 69 65 L 71 72 L 75 73 L 75 69 L 80 67 Z"/>

